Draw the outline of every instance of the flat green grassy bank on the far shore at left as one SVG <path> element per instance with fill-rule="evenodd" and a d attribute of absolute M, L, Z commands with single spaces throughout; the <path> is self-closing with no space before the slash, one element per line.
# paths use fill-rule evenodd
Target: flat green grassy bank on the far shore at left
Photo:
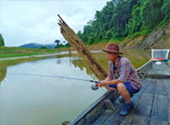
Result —
<path fill-rule="evenodd" d="M 58 53 L 56 49 L 29 49 L 19 47 L 0 47 L 0 58 L 32 56 Z"/>

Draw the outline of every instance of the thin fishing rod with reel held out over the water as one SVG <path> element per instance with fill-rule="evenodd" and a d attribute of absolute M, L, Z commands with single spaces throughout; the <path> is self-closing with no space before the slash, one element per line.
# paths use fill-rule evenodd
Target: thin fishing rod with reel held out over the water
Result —
<path fill-rule="evenodd" d="M 51 78 L 63 78 L 63 79 L 72 79 L 72 80 L 80 80 L 80 81 L 88 81 L 93 83 L 99 83 L 97 80 L 88 80 L 88 79 L 79 79 L 79 78 L 72 78 L 72 77 L 65 77 L 65 76 L 57 76 L 57 75 L 40 75 L 40 74 L 8 74 L 8 75 L 22 75 L 22 76 L 33 76 L 33 77 L 51 77 Z M 92 85 L 92 90 L 97 90 L 98 86 Z"/>

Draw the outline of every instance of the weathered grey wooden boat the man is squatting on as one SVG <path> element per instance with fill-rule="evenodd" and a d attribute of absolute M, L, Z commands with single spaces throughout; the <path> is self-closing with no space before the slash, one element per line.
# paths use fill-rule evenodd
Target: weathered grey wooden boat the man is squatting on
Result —
<path fill-rule="evenodd" d="M 127 116 L 119 114 L 123 104 L 119 94 L 107 91 L 90 105 L 69 125 L 168 125 L 170 124 L 170 61 L 169 50 L 152 50 L 152 58 L 166 57 L 165 60 L 150 60 L 137 72 L 142 89 L 132 97 L 134 103 Z"/>

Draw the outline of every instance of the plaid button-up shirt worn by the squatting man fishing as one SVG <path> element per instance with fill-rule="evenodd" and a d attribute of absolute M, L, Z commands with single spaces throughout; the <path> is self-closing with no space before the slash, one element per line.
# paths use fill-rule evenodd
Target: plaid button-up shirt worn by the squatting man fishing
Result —
<path fill-rule="evenodd" d="M 108 63 L 108 77 L 110 79 L 119 79 L 123 83 L 130 82 L 134 89 L 141 89 L 142 85 L 139 76 L 127 58 L 120 56 L 115 64 L 112 61 L 109 61 Z"/>

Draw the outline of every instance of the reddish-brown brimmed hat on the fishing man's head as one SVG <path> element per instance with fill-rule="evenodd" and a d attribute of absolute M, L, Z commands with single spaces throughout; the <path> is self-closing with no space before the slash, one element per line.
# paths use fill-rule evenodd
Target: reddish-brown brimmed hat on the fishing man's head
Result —
<path fill-rule="evenodd" d="M 114 43 L 108 44 L 106 49 L 104 49 L 103 51 L 107 53 L 123 54 L 122 52 L 119 51 L 119 46 Z"/>

